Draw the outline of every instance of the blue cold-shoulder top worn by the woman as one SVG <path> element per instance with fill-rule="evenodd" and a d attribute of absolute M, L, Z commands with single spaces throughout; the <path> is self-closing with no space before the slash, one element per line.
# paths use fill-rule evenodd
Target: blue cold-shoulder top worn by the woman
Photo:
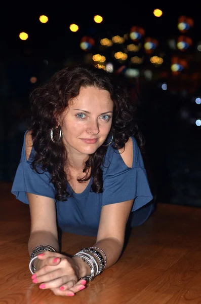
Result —
<path fill-rule="evenodd" d="M 90 191 L 91 178 L 88 186 L 81 194 L 74 193 L 68 184 L 67 189 L 72 197 L 65 202 L 60 202 L 55 199 L 55 187 L 50 182 L 50 173 L 43 171 L 42 174 L 38 174 L 30 167 L 34 158 L 33 147 L 28 161 L 26 159 L 26 132 L 24 134 L 21 160 L 11 192 L 25 204 L 29 203 L 26 192 L 54 199 L 57 209 L 57 221 L 62 231 L 77 235 L 97 236 L 101 207 L 108 204 L 135 199 L 131 211 L 131 216 L 133 217 L 132 226 L 143 223 L 153 211 L 153 197 L 150 192 L 140 149 L 134 137 L 132 137 L 132 168 L 127 167 L 118 150 L 108 146 L 104 166 L 102 166 L 103 193 L 96 194 Z M 149 202 L 151 203 L 147 204 Z"/>

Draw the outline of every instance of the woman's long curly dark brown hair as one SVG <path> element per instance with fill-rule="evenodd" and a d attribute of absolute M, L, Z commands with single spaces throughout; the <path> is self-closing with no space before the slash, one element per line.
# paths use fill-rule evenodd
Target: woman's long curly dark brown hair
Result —
<path fill-rule="evenodd" d="M 34 88 L 30 93 L 31 118 L 28 129 L 35 150 L 32 168 L 39 173 L 39 166 L 50 173 L 51 182 L 56 189 L 56 200 L 66 201 L 70 196 L 64 170 L 67 152 L 62 140 L 53 143 L 50 131 L 57 126 L 59 116 L 68 107 L 68 102 L 79 94 L 81 88 L 96 87 L 110 93 L 114 103 L 111 126 L 114 149 L 124 148 L 130 136 L 135 136 L 140 148 L 143 147 L 144 138 L 135 121 L 137 105 L 131 100 L 129 89 L 122 81 L 114 73 L 94 65 L 78 64 L 58 70 L 48 82 Z M 79 182 L 84 182 L 93 177 L 91 190 L 95 193 L 103 191 L 101 166 L 106 151 L 107 147 L 100 146 L 94 154 L 89 155 L 83 170 L 86 177 L 78 179 Z M 90 174 L 87 174 L 90 168 Z"/>

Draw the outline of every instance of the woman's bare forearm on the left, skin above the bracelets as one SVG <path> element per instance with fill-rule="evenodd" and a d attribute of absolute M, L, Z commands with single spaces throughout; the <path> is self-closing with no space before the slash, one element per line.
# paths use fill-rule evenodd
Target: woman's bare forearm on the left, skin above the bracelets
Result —
<path fill-rule="evenodd" d="M 52 233 L 48 231 L 35 231 L 31 233 L 29 242 L 28 242 L 28 252 L 31 255 L 33 249 L 40 245 L 50 245 L 57 252 L 59 252 L 59 243 L 58 238 L 55 237 Z M 34 265 L 37 269 L 37 260 L 34 261 Z"/>

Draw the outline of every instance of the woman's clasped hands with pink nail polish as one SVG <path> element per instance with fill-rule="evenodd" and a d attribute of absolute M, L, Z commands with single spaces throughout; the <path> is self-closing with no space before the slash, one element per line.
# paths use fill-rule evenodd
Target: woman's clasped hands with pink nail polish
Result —
<path fill-rule="evenodd" d="M 41 289 L 51 289 L 55 295 L 73 296 L 85 288 L 86 280 L 79 280 L 76 261 L 63 254 L 45 251 L 38 255 L 37 271 L 32 275 L 33 283 Z"/>

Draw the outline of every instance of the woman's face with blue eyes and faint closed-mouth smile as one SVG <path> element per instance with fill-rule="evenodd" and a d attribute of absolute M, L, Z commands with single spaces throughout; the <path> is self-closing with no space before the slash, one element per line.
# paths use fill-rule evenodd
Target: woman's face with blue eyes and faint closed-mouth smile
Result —
<path fill-rule="evenodd" d="M 63 113 L 61 129 L 67 151 L 93 154 L 107 138 L 112 124 L 113 101 L 106 90 L 81 88 Z"/>

